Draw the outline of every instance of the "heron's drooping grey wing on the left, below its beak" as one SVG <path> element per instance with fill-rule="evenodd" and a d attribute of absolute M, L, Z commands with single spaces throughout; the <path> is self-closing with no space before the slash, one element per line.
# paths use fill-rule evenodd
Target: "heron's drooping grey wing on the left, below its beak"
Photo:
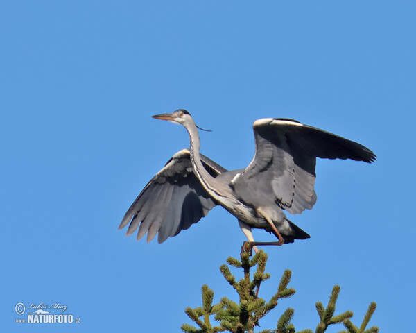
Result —
<path fill-rule="evenodd" d="M 200 157 L 211 176 L 227 171 L 208 157 Z M 215 205 L 192 171 L 189 150 L 183 149 L 148 182 L 125 213 L 119 229 L 130 222 L 127 235 L 139 227 L 137 239 L 148 232 L 147 241 L 151 241 L 159 232 L 157 241 L 162 243 L 197 223 Z"/>

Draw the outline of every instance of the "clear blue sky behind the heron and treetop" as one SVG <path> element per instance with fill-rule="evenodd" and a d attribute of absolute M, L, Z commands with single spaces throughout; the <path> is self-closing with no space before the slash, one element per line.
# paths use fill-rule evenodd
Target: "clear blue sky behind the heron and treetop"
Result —
<path fill-rule="evenodd" d="M 1 331 L 180 332 L 202 284 L 236 300 L 218 267 L 245 237 L 222 208 L 164 244 L 117 230 L 189 145 L 150 117 L 177 108 L 214 130 L 201 150 L 227 169 L 250 162 L 263 117 L 370 147 L 372 165 L 318 160 L 318 202 L 292 216 L 311 239 L 266 249 L 260 296 L 285 268 L 297 294 L 261 329 L 288 306 L 315 329 L 340 284 L 337 313 L 361 323 L 375 301 L 370 325 L 413 331 L 415 41 L 414 1 L 1 1 Z M 81 323 L 15 323 L 18 302 Z"/>

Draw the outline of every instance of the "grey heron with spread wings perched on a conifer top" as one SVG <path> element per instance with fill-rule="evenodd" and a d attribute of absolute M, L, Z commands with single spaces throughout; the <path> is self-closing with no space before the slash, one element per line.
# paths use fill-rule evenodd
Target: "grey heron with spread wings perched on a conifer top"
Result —
<path fill-rule="evenodd" d="M 119 229 L 126 235 L 137 228 L 137 240 L 158 234 L 162 243 L 197 223 L 220 205 L 236 216 L 251 246 L 293 243 L 309 234 L 290 221 L 284 211 L 300 214 L 316 202 L 316 158 L 374 162 L 369 148 L 344 137 L 287 118 L 264 118 L 253 123 L 255 153 L 244 169 L 228 171 L 200 153 L 198 126 L 187 110 L 152 116 L 186 128 L 190 146 L 171 157 L 148 182 Z M 202 129 L 202 128 L 200 128 Z M 252 228 L 277 237 L 256 242 Z"/>

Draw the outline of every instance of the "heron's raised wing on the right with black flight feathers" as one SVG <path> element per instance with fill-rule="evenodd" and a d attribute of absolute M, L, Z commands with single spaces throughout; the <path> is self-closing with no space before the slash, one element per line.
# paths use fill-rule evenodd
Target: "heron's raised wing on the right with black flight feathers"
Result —
<path fill-rule="evenodd" d="M 256 153 L 232 181 L 243 201 L 254 205 L 277 203 L 291 214 L 311 209 L 316 202 L 316 157 L 373 162 L 370 149 L 292 119 L 254 121 Z"/>

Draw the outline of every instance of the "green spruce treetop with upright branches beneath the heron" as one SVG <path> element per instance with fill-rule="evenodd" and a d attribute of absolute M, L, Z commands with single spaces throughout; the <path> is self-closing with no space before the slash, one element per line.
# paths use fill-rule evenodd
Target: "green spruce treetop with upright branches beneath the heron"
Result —
<path fill-rule="evenodd" d="M 220 266 L 225 280 L 235 289 L 239 295 L 239 302 L 234 302 L 227 297 L 220 299 L 220 302 L 213 305 L 214 291 L 204 284 L 202 286 L 202 307 L 187 307 L 185 313 L 191 320 L 198 325 L 195 327 L 189 324 L 182 325 L 182 331 L 187 333 L 216 333 L 216 332 L 232 332 L 232 333 L 254 333 L 254 328 L 259 326 L 261 318 L 266 316 L 282 298 L 289 298 L 295 294 L 295 289 L 289 287 L 291 281 L 291 271 L 286 269 L 281 276 L 277 292 L 266 302 L 263 298 L 259 298 L 259 288 L 262 282 L 270 278 L 270 274 L 266 273 L 267 254 L 263 250 L 252 257 L 251 246 L 247 242 L 241 250 L 241 260 L 234 257 L 227 259 L 227 264 L 243 270 L 243 278 L 236 281 L 229 267 L 226 264 Z M 257 266 L 256 271 L 250 275 L 250 270 Z M 366 329 L 372 314 L 376 309 L 376 303 L 372 302 L 364 316 L 360 327 L 352 323 L 352 311 L 345 311 L 342 314 L 335 315 L 336 300 L 340 293 L 340 286 L 336 285 L 332 289 L 331 296 L 327 307 L 322 302 L 315 304 L 320 322 L 315 328 L 315 333 L 324 333 L 329 325 L 342 323 L 346 330 L 339 333 L 376 333 L 379 328 L 373 326 Z M 259 333 L 313 333 L 313 330 L 306 329 L 296 331 L 295 326 L 291 323 L 295 310 L 288 307 L 277 321 L 276 328 L 273 330 L 262 330 Z M 211 323 L 212 318 L 218 325 Z"/>

